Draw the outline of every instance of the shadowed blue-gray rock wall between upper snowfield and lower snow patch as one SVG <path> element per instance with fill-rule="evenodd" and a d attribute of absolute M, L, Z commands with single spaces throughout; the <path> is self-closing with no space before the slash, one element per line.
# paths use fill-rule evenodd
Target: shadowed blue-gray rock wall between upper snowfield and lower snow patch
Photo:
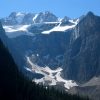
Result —
<path fill-rule="evenodd" d="M 32 62 L 39 66 L 49 66 L 51 69 L 55 69 L 62 66 L 63 55 L 70 42 L 69 37 L 70 31 L 35 34 L 33 37 L 20 36 L 12 40 L 24 53 L 28 50 L 32 51 L 30 55 Z"/>

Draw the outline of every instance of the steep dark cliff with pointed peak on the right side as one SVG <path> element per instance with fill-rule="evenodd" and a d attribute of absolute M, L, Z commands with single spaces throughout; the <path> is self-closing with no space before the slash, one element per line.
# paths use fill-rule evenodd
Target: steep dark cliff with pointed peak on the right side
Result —
<path fill-rule="evenodd" d="M 64 56 L 64 77 L 86 82 L 100 73 L 100 17 L 89 12 L 71 34 Z"/>

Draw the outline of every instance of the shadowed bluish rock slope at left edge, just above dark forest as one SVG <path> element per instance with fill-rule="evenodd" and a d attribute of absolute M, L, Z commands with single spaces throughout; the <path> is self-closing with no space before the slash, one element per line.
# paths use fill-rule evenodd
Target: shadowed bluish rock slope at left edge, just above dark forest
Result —
<path fill-rule="evenodd" d="M 9 52 L 12 54 L 15 62 L 21 69 L 22 66 L 25 64 L 24 63 L 25 61 L 21 55 L 22 51 L 20 51 L 18 49 L 18 46 L 6 36 L 5 30 L 3 29 L 1 22 L 0 22 L 0 39 L 3 41 L 5 46 L 9 49 Z"/>

